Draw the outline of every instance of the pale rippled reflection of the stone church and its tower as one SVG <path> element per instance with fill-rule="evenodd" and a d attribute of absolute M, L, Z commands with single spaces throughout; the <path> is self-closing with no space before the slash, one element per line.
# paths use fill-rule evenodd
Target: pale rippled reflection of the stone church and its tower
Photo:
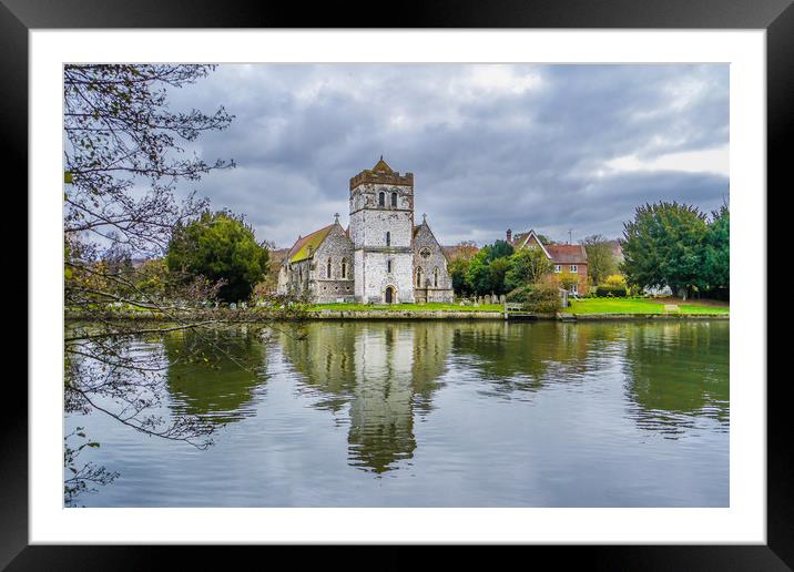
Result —
<path fill-rule="evenodd" d="M 350 405 L 352 464 L 385 472 L 416 449 L 414 413 L 430 409 L 445 372 L 450 329 L 428 323 L 316 323 L 304 340 L 281 337 L 285 355 L 320 399 Z"/>

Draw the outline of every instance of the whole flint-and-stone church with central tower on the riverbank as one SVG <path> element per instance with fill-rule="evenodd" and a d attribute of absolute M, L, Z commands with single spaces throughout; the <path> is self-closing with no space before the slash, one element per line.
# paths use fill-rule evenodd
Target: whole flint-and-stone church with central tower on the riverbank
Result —
<path fill-rule="evenodd" d="M 298 236 L 278 274 L 279 294 L 315 303 L 451 302 L 447 258 L 425 216 L 414 224 L 414 174 L 380 161 L 350 178 L 350 224 Z"/>

